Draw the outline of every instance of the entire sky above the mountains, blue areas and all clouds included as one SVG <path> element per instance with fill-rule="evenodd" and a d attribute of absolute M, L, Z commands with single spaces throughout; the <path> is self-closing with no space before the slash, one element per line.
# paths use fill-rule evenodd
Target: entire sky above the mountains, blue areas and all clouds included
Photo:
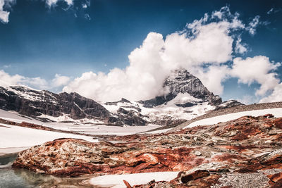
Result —
<path fill-rule="evenodd" d="M 138 101 L 185 68 L 223 100 L 282 100 L 282 1 L 0 0 L 0 21 L 1 86 Z"/>

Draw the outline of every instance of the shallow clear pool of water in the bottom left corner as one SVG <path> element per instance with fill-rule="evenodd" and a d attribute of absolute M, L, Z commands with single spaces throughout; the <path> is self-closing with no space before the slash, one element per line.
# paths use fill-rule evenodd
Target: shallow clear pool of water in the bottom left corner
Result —
<path fill-rule="evenodd" d="M 16 154 L 0 156 L 0 188 L 30 188 L 30 187 L 92 187 L 85 183 L 90 176 L 55 177 L 42 175 L 22 168 L 11 168 Z"/>

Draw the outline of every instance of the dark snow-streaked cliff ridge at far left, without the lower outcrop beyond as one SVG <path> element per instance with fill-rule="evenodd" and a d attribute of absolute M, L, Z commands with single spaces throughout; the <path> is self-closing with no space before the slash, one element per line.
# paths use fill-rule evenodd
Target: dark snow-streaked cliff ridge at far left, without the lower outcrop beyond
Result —
<path fill-rule="evenodd" d="M 76 93 L 54 94 L 28 87 L 0 87 L 0 108 L 27 116 L 50 115 L 70 118 L 106 118 L 110 113 L 103 106 Z"/>

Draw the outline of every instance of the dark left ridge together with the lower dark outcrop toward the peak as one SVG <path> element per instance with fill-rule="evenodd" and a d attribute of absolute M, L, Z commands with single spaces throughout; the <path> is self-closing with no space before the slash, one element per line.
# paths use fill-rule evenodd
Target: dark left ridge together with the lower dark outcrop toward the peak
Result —
<path fill-rule="evenodd" d="M 40 118 L 40 115 L 55 118 L 66 115 L 73 120 L 94 119 L 109 125 L 145 125 L 147 123 L 141 115 L 132 111 L 120 109 L 118 115 L 112 114 L 101 104 L 77 93 L 54 94 L 23 86 L 0 87 L 0 108 L 6 111 L 16 111 L 21 115 L 42 121 L 50 120 L 48 116 Z"/>

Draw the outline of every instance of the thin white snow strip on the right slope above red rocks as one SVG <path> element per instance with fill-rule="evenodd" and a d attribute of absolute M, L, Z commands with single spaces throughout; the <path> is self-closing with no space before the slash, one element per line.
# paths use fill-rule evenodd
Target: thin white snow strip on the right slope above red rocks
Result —
<path fill-rule="evenodd" d="M 188 127 L 195 127 L 197 125 L 213 125 L 213 124 L 220 123 L 220 122 L 235 120 L 245 115 L 259 116 L 259 115 L 265 115 L 267 113 L 271 113 L 276 118 L 279 118 L 279 117 L 282 117 L 282 108 L 270 108 L 270 109 L 263 109 L 263 110 L 256 110 L 256 111 L 244 111 L 244 112 L 238 112 L 238 113 L 230 113 L 226 115 L 219 115 L 213 118 L 197 120 L 193 123 L 190 123 L 186 127 L 184 127 L 184 129 Z"/>

